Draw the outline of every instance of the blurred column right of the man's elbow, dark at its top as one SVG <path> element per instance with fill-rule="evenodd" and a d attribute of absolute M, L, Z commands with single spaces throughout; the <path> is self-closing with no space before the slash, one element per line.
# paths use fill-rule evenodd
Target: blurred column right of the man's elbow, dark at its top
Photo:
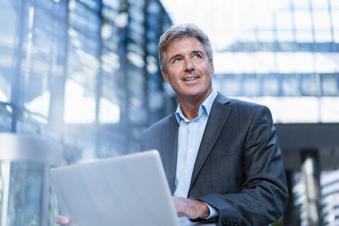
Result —
<path fill-rule="evenodd" d="M 320 166 L 317 150 L 302 151 L 302 178 L 306 191 L 305 210 L 309 226 L 321 226 Z"/>

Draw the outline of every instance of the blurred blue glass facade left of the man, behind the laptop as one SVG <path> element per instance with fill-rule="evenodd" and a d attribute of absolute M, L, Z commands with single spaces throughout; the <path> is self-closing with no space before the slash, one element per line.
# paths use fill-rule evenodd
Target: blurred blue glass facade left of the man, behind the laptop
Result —
<path fill-rule="evenodd" d="M 0 1 L 0 132 L 57 141 L 66 163 L 137 151 L 142 131 L 173 109 L 157 57 L 171 23 L 157 0 Z M 8 163 L 1 222 L 55 225 L 47 166 Z"/>

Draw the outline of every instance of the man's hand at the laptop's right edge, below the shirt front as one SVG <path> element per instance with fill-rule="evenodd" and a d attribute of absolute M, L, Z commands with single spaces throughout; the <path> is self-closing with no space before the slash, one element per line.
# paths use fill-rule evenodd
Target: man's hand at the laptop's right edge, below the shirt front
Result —
<path fill-rule="evenodd" d="M 179 197 L 173 197 L 173 201 L 179 218 L 207 218 L 210 215 L 210 209 L 203 201 Z"/>

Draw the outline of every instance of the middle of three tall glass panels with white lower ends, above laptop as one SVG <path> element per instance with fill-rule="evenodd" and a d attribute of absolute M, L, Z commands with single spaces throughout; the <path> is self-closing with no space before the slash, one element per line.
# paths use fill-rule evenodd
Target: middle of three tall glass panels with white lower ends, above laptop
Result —
<path fill-rule="evenodd" d="M 95 17 L 95 20 L 87 19 L 92 20 L 94 27 L 99 29 L 100 23 L 97 22 L 97 15 L 93 11 L 86 11 L 86 13 L 86 16 Z M 95 90 L 100 66 L 97 56 L 100 37 L 99 30 L 95 29 L 90 32 L 91 26 L 89 25 L 88 29 L 83 28 L 81 32 L 69 29 L 69 78 L 65 85 L 64 104 L 64 121 L 67 124 L 92 124 L 95 121 Z M 86 153 L 93 152 L 86 150 Z"/>

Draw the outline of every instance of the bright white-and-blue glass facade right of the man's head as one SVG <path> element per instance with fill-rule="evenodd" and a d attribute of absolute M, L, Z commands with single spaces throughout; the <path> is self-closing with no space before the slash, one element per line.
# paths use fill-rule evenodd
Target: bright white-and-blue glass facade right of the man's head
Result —
<path fill-rule="evenodd" d="M 248 23 L 234 22 L 239 32 L 232 25 L 224 31 L 232 41 L 215 45 L 215 88 L 268 105 L 275 122 L 338 122 L 339 2 L 245 2 L 249 8 L 238 13 Z M 298 112 L 299 102 L 308 100 L 318 107 L 304 106 L 306 120 L 299 114 L 286 117 L 287 111 Z"/>

